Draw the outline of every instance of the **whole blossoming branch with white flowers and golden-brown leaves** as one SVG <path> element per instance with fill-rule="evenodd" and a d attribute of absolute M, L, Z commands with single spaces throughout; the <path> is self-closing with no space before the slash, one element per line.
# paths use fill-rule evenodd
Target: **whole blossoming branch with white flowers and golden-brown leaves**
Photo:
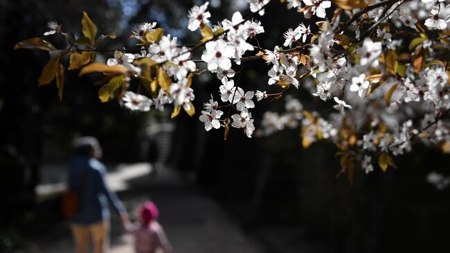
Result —
<path fill-rule="evenodd" d="M 285 43 L 273 49 L 262 49 L 257 39 L 264 27 L 256 18 L 269 11 L 265 7 L 270 0 L 246 1 L 253 12 L 249 17 L 235 12 L 212 26 L 208 2 L 192 7 L 188 29 L 200 30 L 203 37 L 192 46 L 177 44 L 177 37 L 154 22 L 143 23 L 132 31 L 136 49 L 113 54 L 98 46 L 116 35 L 98 35 L 84 12 L 80 37 L 60 24 L 48 24 L 51 30 L 44 35 L 64 36 L 65 49 L 39 37 L 19 42 L 15 49 L 49 52 L 39 85 L 56 80 L 60 98 L 66 71 L 62 58 L 69 55 L 67 69 L 80 69 L 80 76 L 105 74 L 98 91 L 102 102 L 118 99 L 129 110 L 143 112 L 152 107 L 172 110 L 172 118 L 181 109 L 196 114 L 192 76 L 214 73 L 217 89 L 199 113 L 206 131 L 223 128 L 226 139 L 231 128 L 247 137 L 300 128 L 305 148 L 322 140 L 336 145 L 339 175 L 348 173 L 350 183 L 354 168 L 369 173 L 375 161 L 383 171 L 395 168 L 393 156 L 411 151 L 417 141 L 450 152 L 448 0 L 280 0 L 278 4 L 296 9 L 303 20 L 316 16 L 322 21 L 293 24 L 283 34 Z M 111 58 L 97 62 L 99 51 L 111 53 Z M 193 59 L 196 51 L 200 59 Z M 275 85 L 278 92 L 246 90 L 240 76 L 249 60 L 267 63 L 267 85 Z M 132 79 L 138 80 L 133 82 L 137 88 Z M 305 110 L 298 98 L 286 96 L 286 111 L 265 112 L 255 130 L 255 105 L 281 98 L 288 89 L 307 89 L 318 101 L 334 105 L 327 103 L 331 110 L 326 112 Z"/>

